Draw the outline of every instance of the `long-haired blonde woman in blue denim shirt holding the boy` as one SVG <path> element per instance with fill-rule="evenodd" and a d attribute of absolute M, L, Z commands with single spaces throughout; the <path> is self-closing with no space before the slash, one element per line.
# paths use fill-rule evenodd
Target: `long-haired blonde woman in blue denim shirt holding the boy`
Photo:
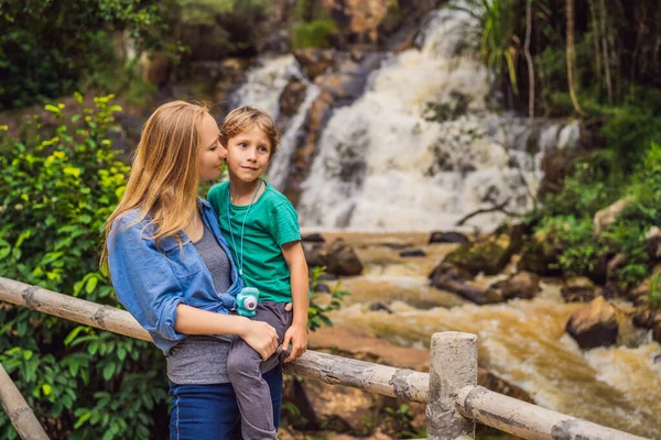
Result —
<path fill-rule="evenodd" d="M 167 360 L 172 439 L 228 439 L 239 420 L 227 377 L 231 338 L 263 360 L 275 351 L 266 322 L 228 315 L 242 282 L 217 217 L 197 198 L 199 182 L 220 176 L 227 151 L 207 109 L 183 101 L 159 107 L 147 121 L 124 195 L 108 219 L 101 265 L 117 297 Z M 282 370 L 264 363 L 275 426 Z"/>

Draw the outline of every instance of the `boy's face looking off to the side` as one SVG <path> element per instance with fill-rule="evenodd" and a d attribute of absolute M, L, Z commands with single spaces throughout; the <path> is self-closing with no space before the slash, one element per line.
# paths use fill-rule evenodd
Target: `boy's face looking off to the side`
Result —
<path fill-rule="evenodd" d="M 252 124 L 227 141 L 227 169 L 241 182 L 257 180 L 264 174 L 271 158 L 271 142 Z"/>

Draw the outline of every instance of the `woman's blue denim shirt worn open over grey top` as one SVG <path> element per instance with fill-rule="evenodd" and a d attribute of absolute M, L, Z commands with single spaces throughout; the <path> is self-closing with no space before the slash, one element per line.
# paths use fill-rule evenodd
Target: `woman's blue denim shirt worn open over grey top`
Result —
<path fill-rule="evenodd" d="M 108 235 L 108 266 L 117 298 L 165 354 L 186 337 L 174 330 L 176 306 L 186 304 L 228 314 L 235 307 L 236 295 L 243 287 L 227 241 L 220 233 L 218 217 L 206 200 L 198 201 L 204 223 L 216 237 L 231 265 L 228 292 L 216 292 L 212 274 L 183 231 L 183 252 L 173 237 L 162 240 L 160 250 L 156 249 L 155 242 L 150 240 L 154 228 L 145 228 L 149 217 L 131 224 L 140 215 L 138 209 L 116 219 Z"/>

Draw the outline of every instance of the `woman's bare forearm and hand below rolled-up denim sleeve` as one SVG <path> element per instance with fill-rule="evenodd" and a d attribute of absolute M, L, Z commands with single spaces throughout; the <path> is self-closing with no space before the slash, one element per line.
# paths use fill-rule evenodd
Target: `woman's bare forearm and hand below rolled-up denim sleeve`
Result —
<path fill-rule="evenodd" d="M 221 315 L 180 304 L 174 329 L 184 334 L 238 334 L 248 345 L 269 359 L 278 349 L 275 329 L 266 322 L 236 315 Z"/>

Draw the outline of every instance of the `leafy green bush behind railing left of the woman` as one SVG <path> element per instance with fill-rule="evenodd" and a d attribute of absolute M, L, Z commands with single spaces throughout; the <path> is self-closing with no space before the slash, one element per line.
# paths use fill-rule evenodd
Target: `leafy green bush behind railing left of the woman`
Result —
<path fill-rule="evenodd" d="M 129 167 L 107 139 L 121 110 L 111 98 L 66 119 L 64 105 L 46 106 L 59 125 L 35 117 L 0 156 L 0 273 L 113 307 L 99 245 Z M 25 308 L 1 308 L 0 322 L 0 362 L 51 437 L 149 438 L 153 409 L 166 399 L 153 344 Z"/>

